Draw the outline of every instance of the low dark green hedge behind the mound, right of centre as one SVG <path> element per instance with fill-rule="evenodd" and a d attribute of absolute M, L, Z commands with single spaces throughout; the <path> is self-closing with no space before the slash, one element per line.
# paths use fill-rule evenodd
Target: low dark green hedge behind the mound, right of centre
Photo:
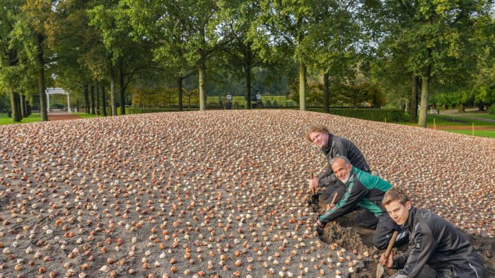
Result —
<path fill-rule="evenodd" d="M 371 109 L 371 108 L 333 108 L 330 114 L 370 121 L 402 121 L 404 111 L 401 109 Z"/>

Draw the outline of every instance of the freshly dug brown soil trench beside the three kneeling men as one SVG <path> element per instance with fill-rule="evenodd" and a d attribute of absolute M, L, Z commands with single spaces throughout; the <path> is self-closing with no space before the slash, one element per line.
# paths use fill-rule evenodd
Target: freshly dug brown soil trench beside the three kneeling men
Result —
<path fill-rule="evenodd" d="M 318 213 L 324 213 L 327 208 L 325 201 L 320 200 L 318 205 L 312 205 L 313 210 Z M 347 215 L 339 218 L 336 221 L 329 222 L 323 233 L 320 236 L 320 240 L 327 244 L 338 244 L 349 251 L 353 251 L 355 254 L 359 254 L 362 257 L 364 266 L 357 268 L 355 273 L 349 273 L 349 278 L 375 278 L 378 258 L 384 250 L 378 250 L 372 244 L 373 232 L 371 229 L 364 229 L 355 225 L 355 217 L 359 211 L 353 211 L 347 213 Z M 473 235 L 461 231 L 463 235 L 469 240 L 478 255 L 485 263 L 488 270 L 487 277 L 495 277 L 495 238 L 489 238 L 487 236 Z M 406 252 L 408 244 L 393 248 L 393 253 L 398 255 Z M 382 277 L 390 277 L 397 270 L 384 268 L 385 272 Z"/>

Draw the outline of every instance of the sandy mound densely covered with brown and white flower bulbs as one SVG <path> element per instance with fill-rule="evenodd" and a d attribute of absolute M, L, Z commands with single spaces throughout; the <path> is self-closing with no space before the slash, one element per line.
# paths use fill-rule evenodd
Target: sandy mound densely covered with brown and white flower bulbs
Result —
<path fill-rule="evenodd" d="M 305 177 L 326 162 L 303 139 L 311 124 L 355 141 L 376 174 L 474 237 L 495 275 L 495 165 L 479 163 L 495 140 L 206 111 L 1 126 L 0 277 L 373 277 L 372 232 L 351 220 L 323 241 L 314 230 Z"/>

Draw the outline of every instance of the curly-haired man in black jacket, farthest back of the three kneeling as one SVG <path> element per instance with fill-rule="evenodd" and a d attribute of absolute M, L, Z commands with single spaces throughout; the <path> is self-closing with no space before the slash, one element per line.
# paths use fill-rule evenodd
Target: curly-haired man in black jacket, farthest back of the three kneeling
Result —
<path fill-rule="evenodd" d="M 364 159 L 364 155 L 360 149 L 355 146 L 353 142 L 331 134 L 325 126 L 311 126 L 306 132 L 306 137 L 309 141 L 321 148 L 321 152 L 325 155 L 327 162 L 334 157 L 347 157 L 347 159 L 351 161 L 353 167 L 356 167 L 364 172 L 371 173 L 370 167 L 366 162 L 366 159 Z M 320 174 L 318 178 L 311 178 L 307 181 L 314 189 L 317 189 L 318 187 L 324 188 L 321 197 L 327 200 L 327 204 L 330 204 L 332 196 L 335 192 L 338 192 L 337 202 L 344 197 L 344 184 L 336 178 L 335 174 L 333 174 L 331 165 L 328 165 L 327 171 Z M 375 225 L 376 223 L 370 223 L 369 225 L 363 227 L 374 229 Z"/>

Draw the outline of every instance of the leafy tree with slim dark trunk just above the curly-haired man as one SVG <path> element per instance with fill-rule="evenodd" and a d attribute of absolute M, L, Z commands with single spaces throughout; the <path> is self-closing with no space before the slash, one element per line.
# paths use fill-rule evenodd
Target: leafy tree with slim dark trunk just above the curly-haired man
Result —
<path fill-rule="evenodd" d="M 358 45 L 362 27 L 358 22 L 359 5 L 355 1 L 325 0 L 315 2 L 307 35 L 300 45 L 308 58 L 310 72 L 323 73 L 323 104 L 329 112 L 330 82 L 346 83 L 355 77 Z"/>

